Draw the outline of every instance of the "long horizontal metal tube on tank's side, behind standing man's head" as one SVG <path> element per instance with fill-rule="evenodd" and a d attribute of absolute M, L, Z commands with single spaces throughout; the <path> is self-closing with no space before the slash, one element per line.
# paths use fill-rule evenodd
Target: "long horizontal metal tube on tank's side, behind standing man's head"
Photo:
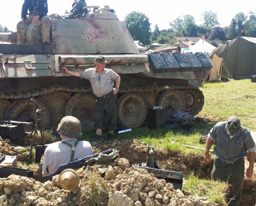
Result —
<path fill-rule="evenodd" d="M 97 56 L 62 55 L 58 57 L 59 65 L 94 65 Z M 147 63 L 147 55 L 108 55 L 107 64 L 144 64 Z"/>

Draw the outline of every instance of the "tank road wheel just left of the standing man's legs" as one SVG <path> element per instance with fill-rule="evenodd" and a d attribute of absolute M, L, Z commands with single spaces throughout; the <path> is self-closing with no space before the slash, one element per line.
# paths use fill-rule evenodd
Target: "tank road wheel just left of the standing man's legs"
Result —
<path fill-rule="evenodd" d="M 65 107 L 65 115 L 77 117 L 81 123 L 81 129 L 94 129 L 94 108 L 96 98 L 90 93 L 79 93 L 72 96 Z"/>

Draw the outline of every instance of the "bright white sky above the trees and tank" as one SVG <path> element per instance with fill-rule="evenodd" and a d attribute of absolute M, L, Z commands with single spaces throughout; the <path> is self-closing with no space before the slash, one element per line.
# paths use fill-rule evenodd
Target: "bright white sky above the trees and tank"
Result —
<path fill-rule="evenodd" d="M 9 30 L 15 31 L 16 25 L 21 19 L 21 7 L 23 0 L 10 0 L 2 7 L 0 12 L 0 24 L 6 26 Z M 151 23 L 152 31 L 155 25 L 158 25 L 160 30 L 170 28 L 169 23 L 179 16 L 190 14 L 194 16 L 197 25 L 202 24 L 201 14 L 204 11 L 212 11 L 217 13 L 217 18 L 221 27 L 229 26 L 231 20 L 239 12 L 244 12 L 246 15 L 250 11 L 256 12 L 254 3 L 251 0 L 242 2 L 230 2 L 225 0 L 202 1 L 202 0 L 183 0 L 182 2 L 170 0 L 153 1 L 148 0 L 85 0 L 87 6 L 108 5 L 115 10 L 120 21 L 125 19 L 125 16 L 132 11 L 144 13 Z M 65 10 L 70 10 L 73 0 L 48 0 L 48 15 L 57 13 L 64 15 Z M 13 6 L 15 5 L 15 6 Z M 253 10 L 254 9 L 254 10 Z"/>

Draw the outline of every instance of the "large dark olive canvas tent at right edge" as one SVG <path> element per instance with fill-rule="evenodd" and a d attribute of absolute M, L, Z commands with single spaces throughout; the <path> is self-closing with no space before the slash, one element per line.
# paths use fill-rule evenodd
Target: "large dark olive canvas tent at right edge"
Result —
<path fill-rule="evenodd" d="M 227 70 L 222 76 L 244 79 L 256 75 L 256 38 L 237 37 L 219 45 L 214 53 L 225 62 Z"/>

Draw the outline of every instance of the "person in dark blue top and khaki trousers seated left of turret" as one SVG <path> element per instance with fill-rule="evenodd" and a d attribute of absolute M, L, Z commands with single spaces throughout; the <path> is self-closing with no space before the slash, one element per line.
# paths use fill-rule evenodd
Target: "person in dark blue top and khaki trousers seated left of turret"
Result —
<path fill-rule="evenodd" d="M 27 11 L 29 15 L 27 17 Z M 50 23 L 51 19 L 47 15 L 47 0 L 25 0 L 21 10 L 21 21 L 17 24 L 18 44 L 26 44 L 25 31 L 28 24 L 37 24 L 41 21 L 42 43 L 44 45 L 52 44 L 50 42 Z"/>

